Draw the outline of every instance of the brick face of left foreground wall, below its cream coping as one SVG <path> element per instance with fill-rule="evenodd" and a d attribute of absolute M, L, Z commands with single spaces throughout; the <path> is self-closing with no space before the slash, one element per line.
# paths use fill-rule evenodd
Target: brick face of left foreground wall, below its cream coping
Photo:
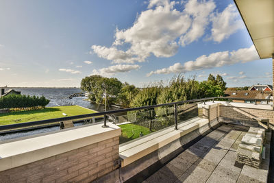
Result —
<path fill-rule="evenodd" d="M 0 182 L 90 182 L 117 169 L 119 136 L 0 172 Z"/>

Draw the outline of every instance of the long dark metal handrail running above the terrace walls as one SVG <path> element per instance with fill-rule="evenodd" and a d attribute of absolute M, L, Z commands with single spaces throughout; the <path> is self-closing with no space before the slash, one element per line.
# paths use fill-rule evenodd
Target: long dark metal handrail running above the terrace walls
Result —
<path fill-rule="evenodd" d="M 152 106 L 142 106 L 138 108 L 125 108 L 125 109 L 119 109 L 119 110 L 109 110 L 105 112 L 96 112 L 96 113 L 91 113 L 91 114 L 82 114 L 82 115 L 76 115 L 72 117 L 61 117 L 61 118 L 55 118 L 55 119 L 45 119 L 41 121 L 32 121 L 32 122 L 26 122 L 26 123 L 16 123 L 16 124 L 11 124 L 11 125 L 0 125 L 0 130 L 10 130 L 14 128 L 20 128 L 20 127 L 29 127 L 29 126 L 34 126 L 34 125 L 43 125 L 47 123 L 56 123 L 60 121 L 69 121 L 73 119 L 83 119 L 83 118 L 88 118 L 88 117 L 97 117 L 97 116 L 103 116 L 104 117 L 104 126 L 106 126 L 106 115 L 109 114 L 115 114 L 115 113 L 120 113 L 120 112 L 129 112 L 129 111 L 134 111 L 134 110 L 144 110 L 144 109 L 150 109 L 150 108 L 158 108 L 158 107 L 163 107 L 163 106 L 177 106 L 179 104 L 184 104 L 184 103 L 195 103 L 199 101 L 208 101 L 214 99 L 240 99 L 242 98 L 233 98 L 233 97 L 207 97 L 203 99 L 192 99 L 192 100 L 186 100 L 186 101 L 177 101 L 177 102 L 172 102 L 172 103 L 162 103 L 158 105 L 152 105 Z M 272 99 L 248 99 L 250 101 L 272 101 Z M 0 121 L 1 122 L 1 121 Z"/>

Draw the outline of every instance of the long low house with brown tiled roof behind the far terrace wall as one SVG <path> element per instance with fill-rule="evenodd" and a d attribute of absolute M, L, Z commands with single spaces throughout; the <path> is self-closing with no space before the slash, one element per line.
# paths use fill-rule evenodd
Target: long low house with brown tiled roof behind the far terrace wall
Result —
<path fill-rule="evenodd" d="M 225 90 L 226 98 L 234 98 L 233 102 L 255 103 L 254 99 L 258 99 L 256 104 L 266 103 L 261 99 L 272 99 L 272 91 L 270 90 Z"/>

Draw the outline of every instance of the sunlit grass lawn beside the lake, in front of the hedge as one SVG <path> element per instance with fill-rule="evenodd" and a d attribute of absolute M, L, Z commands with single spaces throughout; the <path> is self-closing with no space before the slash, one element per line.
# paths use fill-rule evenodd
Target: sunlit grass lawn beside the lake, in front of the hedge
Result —
<path fill-rule="evenodd" d="M 67 117 L 71 117 L 75 115 L 95 113 L 96 111 L 82 108 L 80 106 L 58 106 L 41 110 L 8 112 L 0 114 L 0 125 L 60 118 L 64 117 L 62 114 L 63 112 L 67 114 Z"/>

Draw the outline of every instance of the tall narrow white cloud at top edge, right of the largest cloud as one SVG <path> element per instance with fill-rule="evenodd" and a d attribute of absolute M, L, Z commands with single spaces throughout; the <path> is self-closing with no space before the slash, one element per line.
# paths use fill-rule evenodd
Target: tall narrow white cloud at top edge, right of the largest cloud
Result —
<path fill-rule="evenodd" d="M 192 16 L 192 25 L 188 32 L 180 37 L 182 46 L 198 40 L 205 34 L 206 26 L 210 23 L 209 16 L 216 8 L 214 1 L 190 0 L 185 5 L 184 12 Z"/>

